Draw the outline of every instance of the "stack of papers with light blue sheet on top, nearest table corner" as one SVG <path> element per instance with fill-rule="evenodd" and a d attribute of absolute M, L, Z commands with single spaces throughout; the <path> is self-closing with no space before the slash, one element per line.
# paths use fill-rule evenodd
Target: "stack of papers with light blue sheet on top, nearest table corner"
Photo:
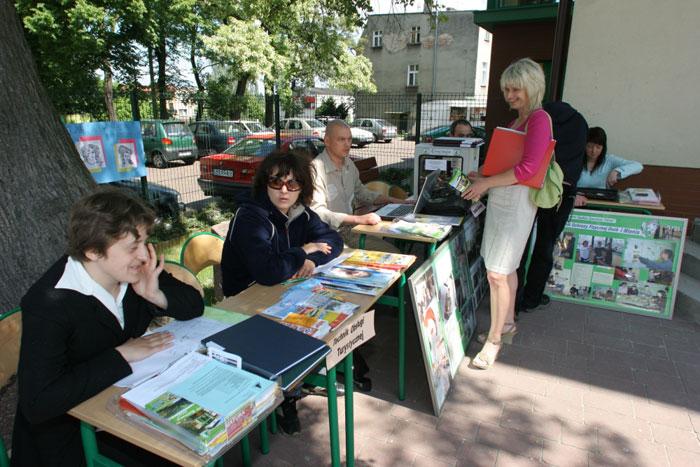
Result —
<path fill-rule="evenodd" d="M 198 454 L 214 455 L 271 407 L 276 390 L 272 381 L 192 352 L 124 393 L 120 406 Z"/>

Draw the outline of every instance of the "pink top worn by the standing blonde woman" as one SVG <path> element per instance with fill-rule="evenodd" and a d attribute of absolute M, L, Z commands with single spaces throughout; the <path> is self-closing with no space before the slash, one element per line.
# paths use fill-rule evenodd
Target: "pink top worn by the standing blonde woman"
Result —
<path fill-rule="evenodd" d="M 525 131 L 526 126 L 527 135 L 525 136 L 523 158 L 513 167 L 518 182 L 529 180 L 535 176 L 544 160 L 545 150 L 552 140 L 549 115 L 544 110 L 535 110 L 522 125 L 513 129 Z"/>

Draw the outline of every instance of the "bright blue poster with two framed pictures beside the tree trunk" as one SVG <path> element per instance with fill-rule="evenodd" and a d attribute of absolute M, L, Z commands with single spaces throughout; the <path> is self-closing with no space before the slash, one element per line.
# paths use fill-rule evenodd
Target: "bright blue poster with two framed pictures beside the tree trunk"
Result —
<path fill-rule="evenodd" d="M 146 176 L 139 122 L 70 123 L 66 129 L 97 183 Z"/>

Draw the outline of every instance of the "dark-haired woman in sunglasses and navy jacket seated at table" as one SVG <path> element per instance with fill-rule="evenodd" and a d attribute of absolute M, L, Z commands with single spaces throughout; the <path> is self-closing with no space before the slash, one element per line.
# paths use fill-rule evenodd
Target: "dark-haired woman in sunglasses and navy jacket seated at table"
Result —
<path fill-rule="evenodd" d="M 221 255 L 223 292 L 236 295 L 252 284 L 279 284 L 308 277 L 343 250 L 340 234 L 308 205 L 314 192 L 310 159 L 273 152 L 253 180 L 253 196 L 231 220 Z M 282 403 L 282 429 L 298 432 L 295 398 Z"/>

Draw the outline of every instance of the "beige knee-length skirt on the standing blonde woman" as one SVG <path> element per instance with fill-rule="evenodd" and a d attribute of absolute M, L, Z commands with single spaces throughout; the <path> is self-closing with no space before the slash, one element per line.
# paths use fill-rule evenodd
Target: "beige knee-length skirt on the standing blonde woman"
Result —
<path fill-rule="evenodd" d="M 481 256 L 488 271 L 510 274 L 518 269 L 536 213 L 527 186 L 489 190 L 481 241 Z"/>

